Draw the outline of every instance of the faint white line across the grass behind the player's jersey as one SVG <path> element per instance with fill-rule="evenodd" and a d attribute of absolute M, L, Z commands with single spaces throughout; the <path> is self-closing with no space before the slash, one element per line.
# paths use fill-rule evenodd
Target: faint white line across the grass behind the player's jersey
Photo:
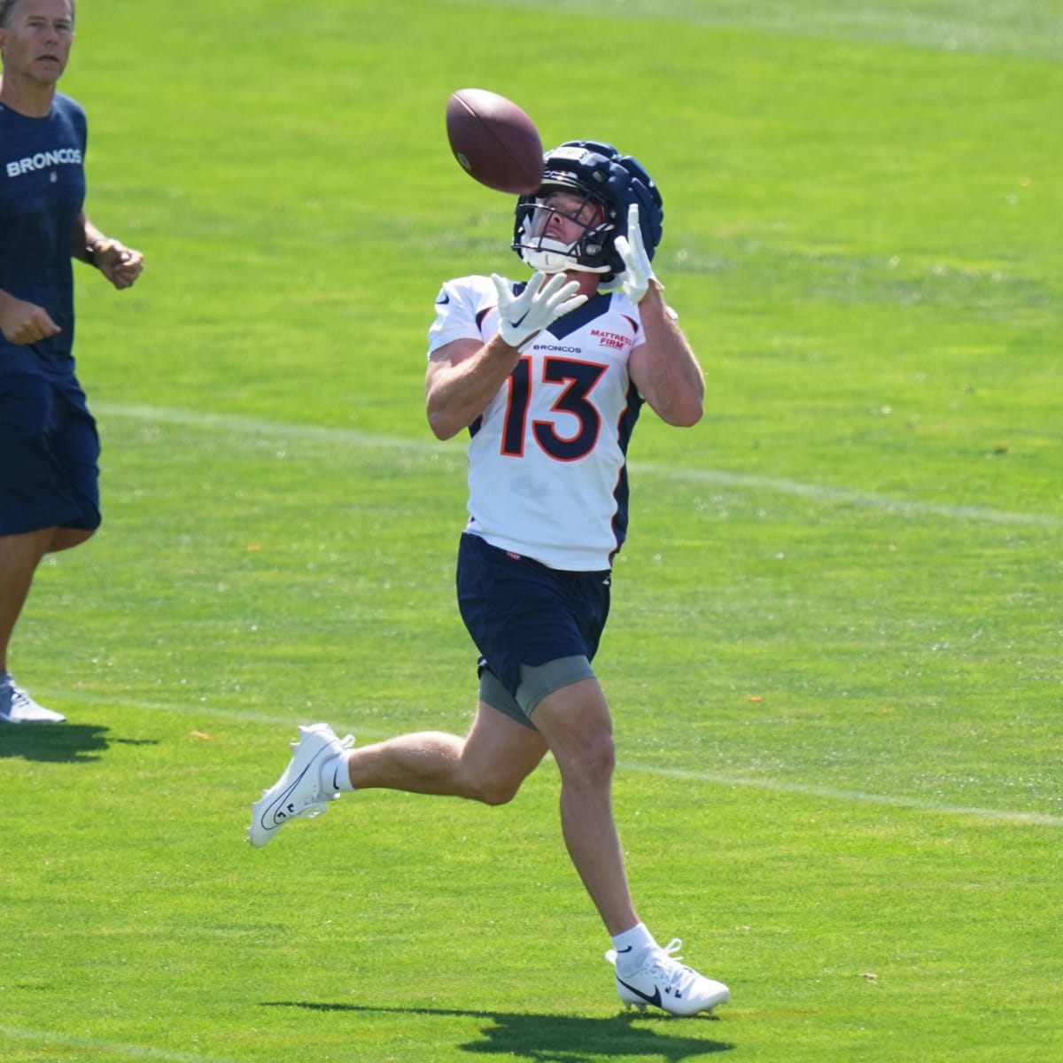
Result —
<path fill-rule="evenodd" d="M 335 428 L 325 425 L 271 421 L 233 414 L 208 414 L 197 410 L 126 403 L 96 403 L 95 408 L 101 417 L 176 424 L 187 428 L 198 428 L 207 432 L 216 431 L 233 435 L 269 436 L 271 438 L 296 439 L 304 442 L 320 441 L 376 450 L 394 450 L 405 453 L 431 453 L 454 457 L 455 461 L 463 460 L 463 452 L 459 453 L 459 450 L 455 445 L 437 443 L 428 438 L 412 439 L 403 436 L 386 435 L 384 433 L 360 432 L 356 428 Z M 819 502 L 882 510 L 895 513 L 898 517 L 926 516 L 942 517 L 976 524 L 1063 527 L 1063 517 L 1052 513 L 1023 513 L 993 509 L 988 506 L 950 505 L 948 503 L 894 499 L 887 495 L 830 487 L 823 484 L 809 484 L 773 476 L 760 476 L 755 473 L 727 472 L 720 469 L 677 468 L 638 461 L 632 461 L 631 468 L 640 474 L 660 476 L 688 484 L 736 487 L 750 492 L 790 494 Z"/>

